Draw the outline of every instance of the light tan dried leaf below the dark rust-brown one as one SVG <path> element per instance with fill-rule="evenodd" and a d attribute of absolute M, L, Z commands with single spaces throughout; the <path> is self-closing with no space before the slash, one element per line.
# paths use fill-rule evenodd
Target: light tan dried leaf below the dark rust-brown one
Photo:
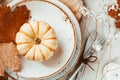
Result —
<path fill-rule="evenodd" d="M 0 43 L 0 76 L 4 75 L 6 67 L 12 71 L 20 71 L 21 59 L 18 54 L 16 45 L 13 42 Z"/>

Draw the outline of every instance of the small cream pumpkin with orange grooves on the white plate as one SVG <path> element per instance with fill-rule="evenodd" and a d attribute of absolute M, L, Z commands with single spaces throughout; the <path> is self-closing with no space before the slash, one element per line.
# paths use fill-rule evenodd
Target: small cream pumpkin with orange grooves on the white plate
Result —
<path fill-rule="evenodd" d="M 15 41 L 19 53 L 32 61 L 48 60 L 57 48 L 56 33 L 44 21 L 23 24 Z"/>

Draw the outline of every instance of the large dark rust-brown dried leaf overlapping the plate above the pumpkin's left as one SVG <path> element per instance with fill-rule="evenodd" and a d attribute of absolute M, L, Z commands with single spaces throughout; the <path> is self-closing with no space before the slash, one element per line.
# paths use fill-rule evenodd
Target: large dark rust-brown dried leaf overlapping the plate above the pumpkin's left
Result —
<path fill-rule="evenodd" d="M 25 5 L 16 7 L 13 11 L 2 5 L 0 11 L 0 42 L 12 42 L 19 28 L 27 22 L 30 11 Z"/>

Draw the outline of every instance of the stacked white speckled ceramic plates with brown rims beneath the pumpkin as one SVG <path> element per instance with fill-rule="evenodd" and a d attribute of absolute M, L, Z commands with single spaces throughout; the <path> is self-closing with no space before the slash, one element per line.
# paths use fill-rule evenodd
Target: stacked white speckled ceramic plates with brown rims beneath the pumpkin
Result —
<path fill-rule="evenodd" d="M 64 75 L 65 71 L 70 69 L 80 55 L 81 33 L 72 12 L 59 1 L 34 0 L 21 2 L 16 0 L 9 5 L 12 7 L 13 5 L 26 5 L 31 10 L 31 20 L 43 20 L 49 23 L 56 31 L 59 42 L 55 55 L 44 63 L 31 62 L 22 58 L 23 69 L 18 75 L 26 78 L 49 77 L 49 79 L 50 77 L 51 79 L 57 79 Z M 79 48 L 77 50 L 76 44 Z"/>

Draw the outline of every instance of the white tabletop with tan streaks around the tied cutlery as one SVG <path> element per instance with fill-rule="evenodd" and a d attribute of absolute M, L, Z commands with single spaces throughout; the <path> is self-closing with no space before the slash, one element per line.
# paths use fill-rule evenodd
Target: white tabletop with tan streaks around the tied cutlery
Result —
<path fill-rule="evenodd" d="M 98 60 L 95 63 L 89 63 L 95 71 L 86 66 L 84 75 L 78 80 L 104 80 L 106 75 L 103 74 L 103 69 L 106 64 L 114 62 L 120 65 L 120 32 L 115 27 L 115 20 L 107 14 L 108 6 L 116 4 L 116 0 L 84 1 L 85 7 L 89 10 L 90 14 L 88 14 L 89 16 L 84 16 L 82 19 L 83 35 L 87 37 L 89 32 L 96 30 L 105 35 L 107 42 L 104 49 L 96 53 Z M 111 75 L 113 75 L 113 73 L 107 75 L 107 77 L 111 77 Z M 120 78 L 113 78 L 114 77 L 105 80 L 120 80 Z"/>

